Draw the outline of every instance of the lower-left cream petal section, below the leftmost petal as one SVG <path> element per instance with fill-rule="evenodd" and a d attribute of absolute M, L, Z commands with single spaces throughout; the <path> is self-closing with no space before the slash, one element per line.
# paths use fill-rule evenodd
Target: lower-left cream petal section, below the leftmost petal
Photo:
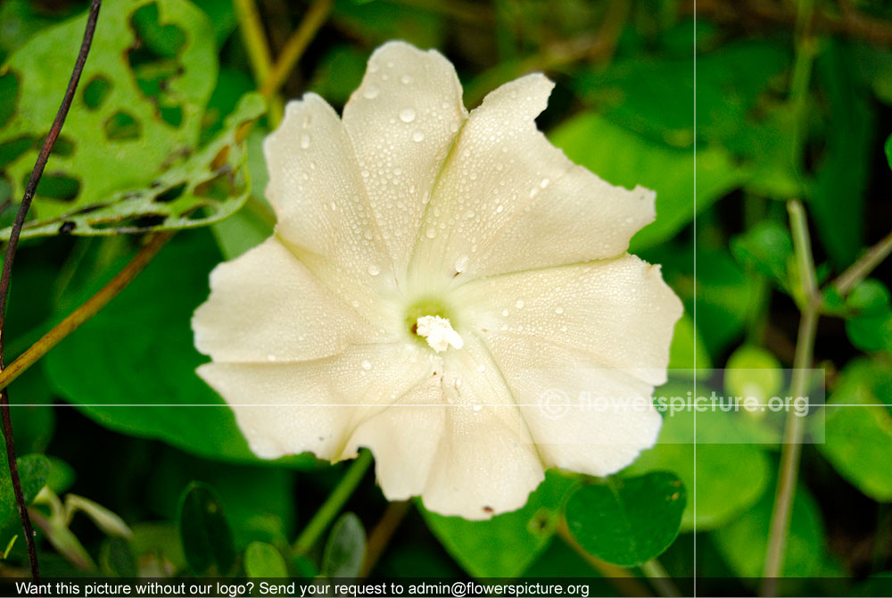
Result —
<path fill-rule="evenodd" d="M 315 361 L 212 362 L 198 373 L 232 406 L 261 458 L 309 451 L 339 461 L 356 456 L 347 443 L 361 418 L 391 403 L 392 395 L 409 393 L 431 367 L 412 345 L 351 345 Z"/>

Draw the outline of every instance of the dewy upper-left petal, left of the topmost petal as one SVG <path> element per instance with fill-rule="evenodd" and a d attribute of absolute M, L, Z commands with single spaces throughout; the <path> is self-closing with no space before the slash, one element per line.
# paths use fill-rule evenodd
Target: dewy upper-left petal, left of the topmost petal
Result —
<path fill-rule="evenodd" d="M 382 301 L 397 292 L 392 261 L 337 113 L 315 94 L 289 102 L 263 149 L 277 235 L 335 295 L 383 322 Z"/>

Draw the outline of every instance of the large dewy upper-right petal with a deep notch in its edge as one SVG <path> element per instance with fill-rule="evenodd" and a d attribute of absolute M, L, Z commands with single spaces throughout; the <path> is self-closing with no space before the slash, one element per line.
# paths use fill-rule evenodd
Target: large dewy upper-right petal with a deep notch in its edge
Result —
<path fill-rule="evenodd" d="M 652 192 L 609 185 L 536 128 L 552 87 L 541 74 L 516 79 L 471 112 L 425 212 L 419 286 L 442 286 L 456 273 L 474 278 L 613 257 L 654 219 Z M 445 278 L 432 280 L 432 272 Z"/>

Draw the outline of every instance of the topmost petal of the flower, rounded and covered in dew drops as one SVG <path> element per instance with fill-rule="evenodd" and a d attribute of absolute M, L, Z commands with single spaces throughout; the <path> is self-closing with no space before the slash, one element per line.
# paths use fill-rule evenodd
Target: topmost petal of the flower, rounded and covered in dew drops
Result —
<path fill-rule="evenodd" d="M 344 106 L 368 198 L 398 268 L 409 262 L 425 202 L 466 114 L 452 64 L 404 42 L 372 54 Z"/>

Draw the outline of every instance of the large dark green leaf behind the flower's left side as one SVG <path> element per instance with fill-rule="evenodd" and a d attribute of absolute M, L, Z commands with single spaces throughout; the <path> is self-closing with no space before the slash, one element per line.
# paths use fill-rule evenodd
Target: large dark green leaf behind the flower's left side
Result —
<path fill-rule="evenodd" d="M 207 298 L 208 274 L 219 259 L 207 231 L 174 237 L 103 311 L 46 356 L 56 392 L 107 428 L 210 459 L 257 461 L 232 410 L 195 374 L 206 358 L 194 348 L 189 322 Z"/>

